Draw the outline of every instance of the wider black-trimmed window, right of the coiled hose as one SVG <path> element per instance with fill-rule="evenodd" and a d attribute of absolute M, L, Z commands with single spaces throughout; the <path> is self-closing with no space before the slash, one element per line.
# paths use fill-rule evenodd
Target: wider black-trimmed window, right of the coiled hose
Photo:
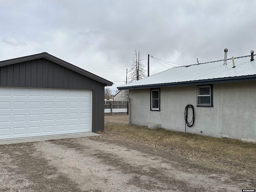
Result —
<path fill-rule="evenodd" d="M 212 85 L 197 86 L 197 106 L 213 107 Z"/>

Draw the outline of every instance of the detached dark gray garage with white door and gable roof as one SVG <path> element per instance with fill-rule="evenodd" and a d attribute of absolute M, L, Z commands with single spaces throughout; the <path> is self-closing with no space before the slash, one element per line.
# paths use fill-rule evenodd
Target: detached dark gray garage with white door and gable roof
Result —
<path fill-rule="evenodd" d="M 0 140 L 102 131 L 111 85 L 46 52 L 0 61 Z"/>

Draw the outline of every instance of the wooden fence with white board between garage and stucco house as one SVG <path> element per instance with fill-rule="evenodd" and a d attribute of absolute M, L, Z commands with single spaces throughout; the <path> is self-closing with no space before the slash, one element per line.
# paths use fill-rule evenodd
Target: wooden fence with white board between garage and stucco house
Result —
<path fill-rule="evenodd" d="M 105 115 L 128 115 L 128 101 L 105 101 Z"/>

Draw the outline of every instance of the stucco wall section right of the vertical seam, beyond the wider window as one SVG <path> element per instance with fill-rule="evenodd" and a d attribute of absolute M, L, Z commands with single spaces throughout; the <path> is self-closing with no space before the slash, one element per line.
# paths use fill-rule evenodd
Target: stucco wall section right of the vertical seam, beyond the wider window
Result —
<path fill-rule="evenodd" d="M 256 142 L 256 82 L 222 84 L 222 136 Z"/>

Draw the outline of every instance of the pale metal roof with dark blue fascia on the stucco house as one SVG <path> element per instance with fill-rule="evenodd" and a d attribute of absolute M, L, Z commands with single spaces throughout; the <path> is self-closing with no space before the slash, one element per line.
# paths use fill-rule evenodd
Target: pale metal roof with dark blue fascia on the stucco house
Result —
<path fill-rule="evenodd" d="M 256 80 L 256 62 L 249 56 L 171 68 L 141 80 L 119 86 L 119 90 L 213 84 Z"/>

